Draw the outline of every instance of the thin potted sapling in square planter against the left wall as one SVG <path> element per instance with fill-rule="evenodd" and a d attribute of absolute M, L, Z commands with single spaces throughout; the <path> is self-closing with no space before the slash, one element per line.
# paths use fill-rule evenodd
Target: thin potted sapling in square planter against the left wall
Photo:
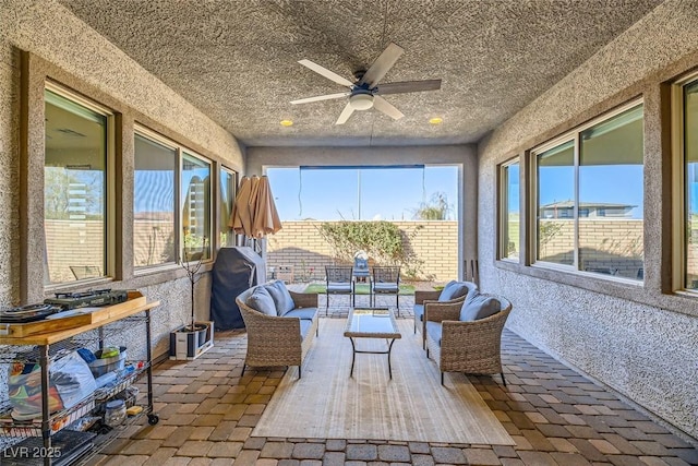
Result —
<path fill-rule="evenodd" d="M 201 279 L 198 271 L 206 251 L 206 237 L 203 238 L 200 251 L 190 254 L 189 249 L 184 248 L 183 260 L 179 264 L 186 271 L 186 277 L 191 285 L 191 319 L 189 324 L 170 334 L 170 357 L 173 359 L 195 359 L 213 346 L 212 323 L 196 322 L 194 306 L 194 286 Z M 195 260 L 194 256 L 196 256 Z"/>

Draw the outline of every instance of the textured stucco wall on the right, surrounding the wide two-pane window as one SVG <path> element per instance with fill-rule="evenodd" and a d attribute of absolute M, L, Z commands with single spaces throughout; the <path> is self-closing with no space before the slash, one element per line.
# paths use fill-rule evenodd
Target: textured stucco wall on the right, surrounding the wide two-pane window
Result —
<path fill-rule="evenodd" d="M 507 326 L 693 437 L 698 297 L 669 288 L 671 154 L 660 83 L 698 65 L 698 35 L 688 26 L 697 12 L 696 1 L 660 5 L 481 142 L 478 196 L 481 288 L 512 300 Z M 496 164 L 638 95 L 645 100 L 645 283 L 497 262 Z"/>

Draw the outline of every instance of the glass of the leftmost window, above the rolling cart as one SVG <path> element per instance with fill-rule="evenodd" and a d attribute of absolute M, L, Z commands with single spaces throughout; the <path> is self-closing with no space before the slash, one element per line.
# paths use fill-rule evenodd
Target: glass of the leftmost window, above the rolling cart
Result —
<path fill-rule="evenodd" d="M 106 276 L 110 113 L 58 88 L 47 88 L 44 98 L 48 284 Z"/>

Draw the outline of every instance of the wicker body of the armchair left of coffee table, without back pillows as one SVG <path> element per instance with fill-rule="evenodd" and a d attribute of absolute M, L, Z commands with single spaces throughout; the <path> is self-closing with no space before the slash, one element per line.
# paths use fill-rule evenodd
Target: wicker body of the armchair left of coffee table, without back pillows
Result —
<path fill-rule="evenodd" d="M 267 315 L 250 308 L 245 301 L 251 295 L 250 288 L 236 298 L 242 320 L 248 331 L 248 353 L 244 358 L 242 373 L 250 367 L 298 366 L 298 377 L 301 377 L 301 365 L 314 337 L 317 335 L 317 312 L 311 322 L 305 337 L 301 338 L 301 320 Z M 296 309 L 317 308 L 317 294 L 290 291 Z"/>

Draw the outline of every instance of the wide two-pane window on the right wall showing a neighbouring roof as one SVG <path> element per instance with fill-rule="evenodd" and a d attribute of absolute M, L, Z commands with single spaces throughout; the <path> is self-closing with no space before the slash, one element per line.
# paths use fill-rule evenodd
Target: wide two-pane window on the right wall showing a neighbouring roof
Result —
<path fill-rule="evenodd" d="M 537 261 L 642 279 L 642 105 L 533 151 Z"/>

